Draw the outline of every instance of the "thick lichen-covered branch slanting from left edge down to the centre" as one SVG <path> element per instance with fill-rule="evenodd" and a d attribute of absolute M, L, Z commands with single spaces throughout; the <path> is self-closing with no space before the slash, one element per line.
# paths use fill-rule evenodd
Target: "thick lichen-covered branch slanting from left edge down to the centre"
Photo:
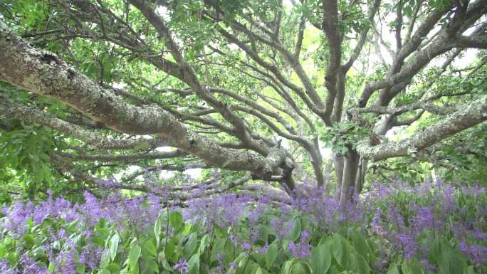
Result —
<path fill-rule="evenodd" d="M 226 149 L 190 132 L 157 105 L 137 107 L 78 73 L 56 55 L 28 45 L 0 21 L 0 80 L 38 95 L 56 98 L 106 127 L 132 135 L 157 134 L 168 145 L 223 169 L 250 171 L 269 177 L 276 167 L 268 159 Z M 273 163 L 283 160 L 271 159 Z"/>

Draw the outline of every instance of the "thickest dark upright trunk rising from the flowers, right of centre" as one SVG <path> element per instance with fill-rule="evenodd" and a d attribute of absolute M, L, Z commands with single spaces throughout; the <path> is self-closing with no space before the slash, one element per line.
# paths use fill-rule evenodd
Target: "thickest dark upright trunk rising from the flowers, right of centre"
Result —
<path fill-rule="evenodd" d="M 358 164 L 360 155 L 355 150 L 350 150 L 345 155 L 345 164 L 343 167 L 342 189 L 340 194 L 340 204 L 345 205 L 347 201 L 352 200 L 353 187 L 357 177 Z"/>

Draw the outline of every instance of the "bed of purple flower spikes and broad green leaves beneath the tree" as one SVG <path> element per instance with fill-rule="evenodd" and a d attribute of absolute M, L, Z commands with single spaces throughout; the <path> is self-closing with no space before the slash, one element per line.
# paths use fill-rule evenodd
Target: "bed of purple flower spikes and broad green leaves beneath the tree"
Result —
<path fill-rule="evenodd" d="M 308 193 L 19 202 L 1 218 L 1 273 L 486 273 L 483 187 L 382 184 L 342 209 Z"/>

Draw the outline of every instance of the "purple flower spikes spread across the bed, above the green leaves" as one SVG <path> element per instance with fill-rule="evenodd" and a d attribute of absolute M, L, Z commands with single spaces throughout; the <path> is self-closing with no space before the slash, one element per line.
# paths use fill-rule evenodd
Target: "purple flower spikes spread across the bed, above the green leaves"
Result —
<path fill-rule="evenodd" d="M 150 183 L 150 182 L 149 182 Z M 212 183 L 210 183 L 212 184 Z M 288 254 L 295 258 L 310 255 L 313 232 L 336 232 L 340 228 L 358 228 L 368 233 L 377 243 L 384 255 L 375 268 L 384 270 L 391 251 L 400 250 L 404 257 L 417 258 L 425 269 L 435 271 L 435 265 L 428 260 L 431 253 L 428 241 L 419 241 L 423 236 L 453 235 L 459 248 L 476 265 L 486 263 L 487 248 L 482 246 L 487 240 L 487 206 L 475 203 L 486 190 L 478 187 L 453 187 L 435 181 L 419 186 L 409 184 L 375 185 L 375 189 L 362 196 L 354 196 L 347 204 L 340 204 L 340 197 L 328 196 L 323 189 L 305 185 L 290 196 L 279 199 L 261 194 L 231 193 L 206 196 L 206 186 L 181 187 L 186 197 L 187 207 L 182 209 L 184 220 L 204 223 L 206 232 L 214 228 L 228 231 L 229 239 L 236 249 L 246 253 L 265 253 L 270 242 L 261 241 L 259 227 L 267 222 L 277 241 L 287 241 Z M 71 204 L 63 198 L 49 196 L 37 205 L 16 203 L 3 209 L 4 218 L 0 226 L 12 238 L 20 238 L 46 220 L 58 224 L 75 221 L 80 231 L 83 246 L 70 238 L 68 226 L 52 226 L 48 229 L 44 250 L 48 263 L 53 263 L 57 272 L 75 273 L 76 263 L 85 265 L 86 270 L 97 268 L 102 248 L 93 243 L 94 229 L 105 219 L 115 224 L 119 230 L 142 233 L 155 223 L 162 211 L 159 196 L 123 197 L 120 193 L 106 199 L 97 199 L 85 193 L 83 204 Z M 271 202 L 272 201 L 272 202 Z M 290 231 L 295 228 L 294 220 L 305 216 L 310 227 L 300 231 L 298 241 L 290 240 Z M 203 231 L 205 232 L 205 231 Z M 244 232 L 244 233 L 242 233 Z M 31 233 L 31 232 L 29 232 Z M 296 236 L 297 237 L 297 236 Z M 315 238 L 315 237 L 313 237 Z M 61 243 L 63 249 L 53 248 L 53 243 Z M 19 251 L 19 268 L 23 273 L 47 273 L 43 264 L 36 263 L 28 256 L 28 251 Z M 227 273 L 234 270 L 224 265 L 221 254 L 217 255 L 218 266 L 211 268 L 214 273 Z M 174 265 L 179 273 L 187 273 L 187 262 L 179 260 Z M 17 274 L 6 260 L 0 260 L 0 273 Z"/>

